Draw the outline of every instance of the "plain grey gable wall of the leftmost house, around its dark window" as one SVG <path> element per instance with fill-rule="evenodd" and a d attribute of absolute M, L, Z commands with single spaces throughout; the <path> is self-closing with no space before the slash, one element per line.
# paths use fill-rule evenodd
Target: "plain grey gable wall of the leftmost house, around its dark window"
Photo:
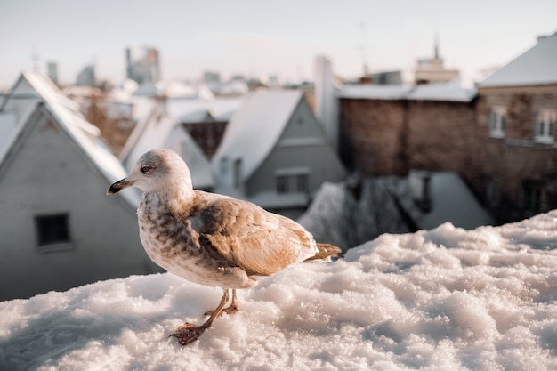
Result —
<path fill-rule="evenodd" d="M 0 300 L 157 271 L 143 251 L 133 206 L 44 109 L 0 168 Z M 35 217 L 69 214 L 71 248 L 40 253 Z"/>

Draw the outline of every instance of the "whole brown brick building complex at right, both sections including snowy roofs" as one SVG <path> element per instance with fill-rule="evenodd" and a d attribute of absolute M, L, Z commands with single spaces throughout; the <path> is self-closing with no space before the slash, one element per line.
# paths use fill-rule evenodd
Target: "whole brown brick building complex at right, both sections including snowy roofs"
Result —
<path fill-rule="evenodd" d="M 351 170 L 461 174 L 496 217 L 557 208 L 557 33 L 540 37 L 475 89 L 349 86 L 341 94 L 341 151 Z"/>

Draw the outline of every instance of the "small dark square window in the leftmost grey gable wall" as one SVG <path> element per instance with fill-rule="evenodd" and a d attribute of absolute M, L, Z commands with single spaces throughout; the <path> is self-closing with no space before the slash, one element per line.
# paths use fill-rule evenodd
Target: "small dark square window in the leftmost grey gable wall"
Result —
<path fill-rule="evenodd" d="M 69 214 L 40 215 L 35 217 L 36 241 L 39 253 L 69 250 Z"/>

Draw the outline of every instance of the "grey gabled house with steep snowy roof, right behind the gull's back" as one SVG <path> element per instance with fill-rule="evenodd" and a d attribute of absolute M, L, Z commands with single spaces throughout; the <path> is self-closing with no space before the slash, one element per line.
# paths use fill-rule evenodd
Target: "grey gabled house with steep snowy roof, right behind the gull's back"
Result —
<path fill-rule="evenodd" d="M 303 92 L 249 94 L 212 159 L 217 190 L 296 217 L 345 171 Z"/>

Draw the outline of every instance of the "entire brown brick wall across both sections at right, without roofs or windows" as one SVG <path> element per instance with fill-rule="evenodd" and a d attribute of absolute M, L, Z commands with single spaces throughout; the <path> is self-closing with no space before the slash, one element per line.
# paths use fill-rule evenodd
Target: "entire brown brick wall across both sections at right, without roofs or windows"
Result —
<path fill-rule="evenodd" d="M 489 136 L 493 106 L 505 138 Z M 480 89 L 470 103 L 342 99 L 341 151 L 364 175 L 460 173 L 498 222 L 517 221 L 557 208 L 557 143 L 534 141 L 538 109 L 557 109 L 557 85 Z"/>

